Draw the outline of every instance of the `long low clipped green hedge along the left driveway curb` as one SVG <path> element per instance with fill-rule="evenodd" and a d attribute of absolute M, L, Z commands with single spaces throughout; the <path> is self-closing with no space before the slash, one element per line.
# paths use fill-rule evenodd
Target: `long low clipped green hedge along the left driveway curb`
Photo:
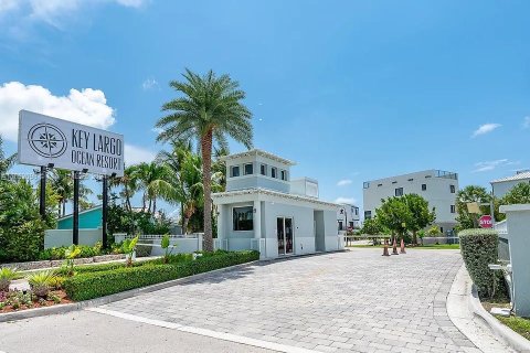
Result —
<path fill-rule="evenodd" d="M 197 260 L 157 265 L 147 263 L 103 271 L 80 272 L 67 278 L 63 287 L 73 300 L 88 300 L 120 291 L 150 286 L 214 269 L 250 263 L 259 258 L 258 252 L 234 252 Z"/>

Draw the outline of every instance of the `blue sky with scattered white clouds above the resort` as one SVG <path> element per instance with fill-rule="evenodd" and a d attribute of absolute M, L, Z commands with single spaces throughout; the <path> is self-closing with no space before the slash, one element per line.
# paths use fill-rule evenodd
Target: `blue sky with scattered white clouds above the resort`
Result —
<path fill-rule="evenodd" d="M 529 12 L 528 1 L 0 0 L 0 133 L 14 151 L 15 111 L 40 109 L 124 133 L 129 161 L 146 160 L 162 148 L 151 129 L 176 96 L 168 82 L 213 68 L 246 90 L 254 145 L 297 161 L 293 175 L 318 179 L 322 199 L 362 205 L 364 180 L 433 168 L 488 185 L 530 168 Z"/>

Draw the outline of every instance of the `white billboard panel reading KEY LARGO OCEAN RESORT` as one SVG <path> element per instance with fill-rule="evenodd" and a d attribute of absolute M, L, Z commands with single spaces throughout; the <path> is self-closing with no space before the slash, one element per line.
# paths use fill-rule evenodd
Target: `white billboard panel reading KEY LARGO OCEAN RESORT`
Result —
<path fill-rule="evenodd" d="M 20 110 L 19 163 L 124 175 L 124 136 Z"/>

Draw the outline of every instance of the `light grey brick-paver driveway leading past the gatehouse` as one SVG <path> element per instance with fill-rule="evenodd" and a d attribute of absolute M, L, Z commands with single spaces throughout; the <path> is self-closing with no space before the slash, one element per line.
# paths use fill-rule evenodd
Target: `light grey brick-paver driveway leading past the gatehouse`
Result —
<path fill-rule="evenodd" d="M 475 352 L 451 322 L 455 250 L 263 263 L 100 308 L 320 352 Z"/>

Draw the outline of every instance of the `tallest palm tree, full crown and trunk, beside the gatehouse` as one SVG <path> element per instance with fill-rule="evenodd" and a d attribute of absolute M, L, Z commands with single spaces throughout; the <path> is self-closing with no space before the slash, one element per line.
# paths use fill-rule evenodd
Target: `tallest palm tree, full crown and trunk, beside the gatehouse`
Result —
<path fill-rule="evenodd" d="M 251 111 L 242 104 L 245 93 L 229 75 L 218 77 L 213 71 L 204 76 L 186 69 L 184 81 L 170 82 L 182 94 L 162 106 L 169 115 L 160 118 L 158 141 L 189 141 L 195 139 L 202 154 L 202 183 L 204 186 L 204 248 L 213 250 L 212 238 L 212 147 L 225 147 L 226 138 L 252 147 Z"/>

